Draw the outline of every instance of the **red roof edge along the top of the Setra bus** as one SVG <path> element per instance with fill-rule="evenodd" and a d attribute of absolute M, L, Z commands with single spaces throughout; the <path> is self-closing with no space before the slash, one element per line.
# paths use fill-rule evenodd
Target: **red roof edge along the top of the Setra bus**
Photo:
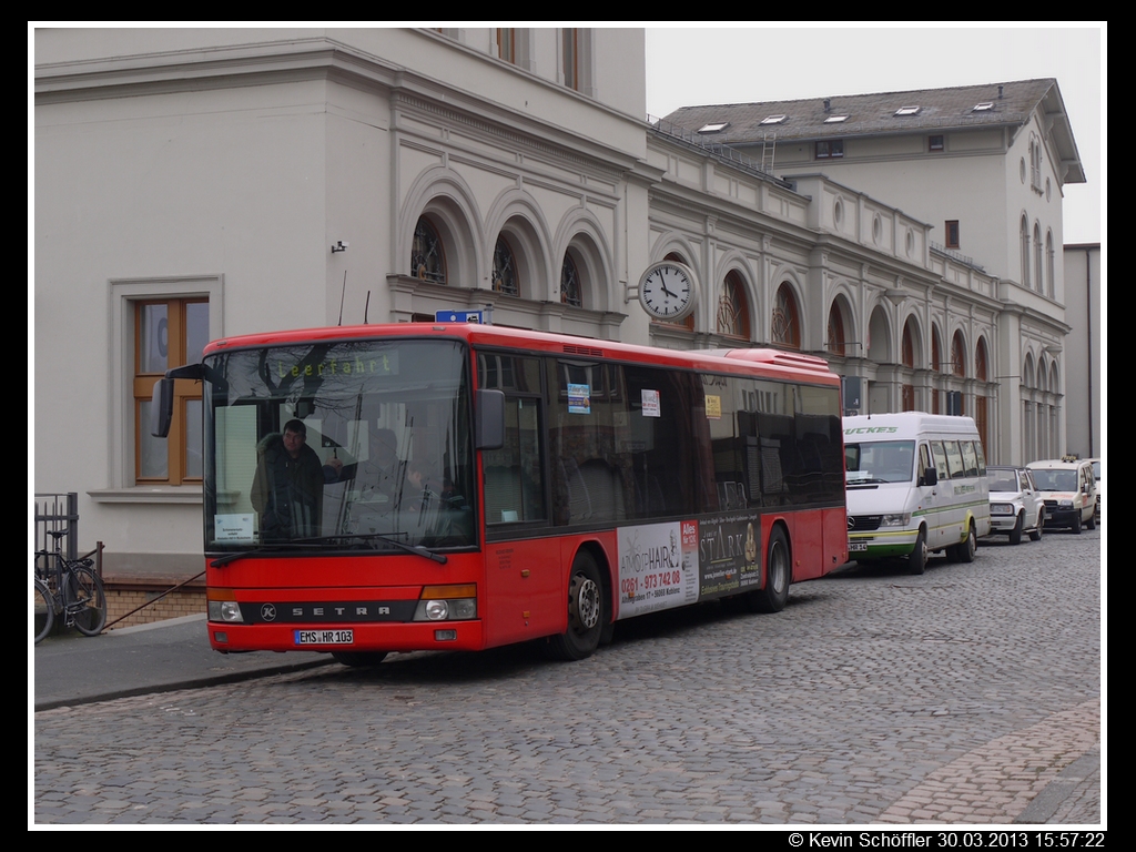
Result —
<path fill-rule="evenodd" d="M 396 337 L 450 337 L 466 341 L 473 346 L 651 364 L 704 373 L 766 375 L 770 378 L 794 378 L 819 384 L 840 383 L 840 377 L 828 369 L 827 361 L 799 352 L 785 352 L 776 349 L 661 349 L 476 323 L 395 323 L 245 334 L 215 340 L 206 346 L 204 353 L 209 356 L 237 349 L 292 345 L 316 341 L 335 342 Z"/>

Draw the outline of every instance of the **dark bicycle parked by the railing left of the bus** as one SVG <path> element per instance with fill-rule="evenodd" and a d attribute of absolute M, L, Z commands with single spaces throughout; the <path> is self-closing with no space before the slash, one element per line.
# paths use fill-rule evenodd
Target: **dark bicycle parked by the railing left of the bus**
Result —
<path fill-rule="evenodd" d="M 35 644 L 51 633 L 57 615 L 62 615 L 65 624 L 76 627 L 84 636 L 98 636 L 107 624 L 102 578 L 95 574 L 92 560 L 64 556 L 59 540 L 67 535 L 66 529 L 48 531 L 48 534 L 56 540 L 56 549 L 35 552 L 35 576 L 32 578 Z"/>

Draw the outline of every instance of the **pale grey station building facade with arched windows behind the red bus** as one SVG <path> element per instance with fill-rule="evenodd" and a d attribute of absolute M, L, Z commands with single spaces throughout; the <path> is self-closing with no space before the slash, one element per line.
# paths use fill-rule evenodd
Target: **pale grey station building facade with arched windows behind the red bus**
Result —
<path fill-rule="evenodd" d="M 821 353 L 870 410 L 958 392 L 986 408 L 992 462 L 1026 460 L 1026 423 L 1063 435 L 1058 279 L 1051 298 L 937 249 L 937 218 L 849 175 L 785 181 L 650 127 L 642 31 L 42 30 L 35 50 L 35 491 L 80 492 L 108 570 L 200 570 L 193 453 L 140 424 L 140 361 L 191 351 L 194 321 L 492 304 L 503 325 Z M 668 257 L 696 276 L 687 324 L 637 303 Z M 148 306 L 172 311 L 165 342 Z M 1053 389 L 1033 420 L 1003 378 L 1030 358 Z"/>

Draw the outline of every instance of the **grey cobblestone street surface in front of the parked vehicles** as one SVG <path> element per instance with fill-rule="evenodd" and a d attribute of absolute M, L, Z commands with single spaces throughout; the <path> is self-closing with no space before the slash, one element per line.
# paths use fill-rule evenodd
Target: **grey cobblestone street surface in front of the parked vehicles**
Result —
<path fill-rule="evenodd" d="M 35 715 L 37 824 L 1100 825 L 1100 532 Z"/>

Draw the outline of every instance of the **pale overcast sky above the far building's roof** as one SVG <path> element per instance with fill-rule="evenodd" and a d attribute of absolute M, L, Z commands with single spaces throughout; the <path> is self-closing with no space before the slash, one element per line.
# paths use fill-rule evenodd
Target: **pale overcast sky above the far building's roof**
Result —
<path fill-rule="evenodd" d="M 646 107 L 829 98 L 1054 77 L 1087 183 L 1064 186 L 1066 243 L 1102 242 L 1105 24 L 682 24 L 646 31 Z M 885 199 L 886 200 L 886 199 Z"/>

